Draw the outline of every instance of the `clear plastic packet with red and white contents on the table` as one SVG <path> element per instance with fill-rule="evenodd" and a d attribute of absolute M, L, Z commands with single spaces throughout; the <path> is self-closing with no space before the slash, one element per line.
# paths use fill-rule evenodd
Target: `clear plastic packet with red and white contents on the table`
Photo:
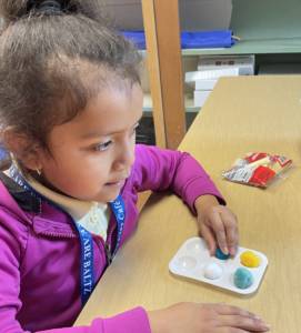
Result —
<path fill-rule="evenodd" d="M 234 165 L 222 173 L 229 181 L 268 188 L 283 171 L 292 165 L 292 160 L 263 152 L 248 153 L 235 161 Z"/>

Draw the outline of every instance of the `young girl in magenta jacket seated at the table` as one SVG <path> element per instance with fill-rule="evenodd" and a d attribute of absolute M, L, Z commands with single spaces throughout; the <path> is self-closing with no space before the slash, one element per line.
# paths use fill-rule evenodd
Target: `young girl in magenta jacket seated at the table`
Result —
<path fill-rule="evenodd" d="M 210 252 L 234 254 L 237 221 L 189 154 L 136 145 L 139 56 L 97 1 L 2 0 L 1 332 L 265 332 L 225 304 L 131 309 L 69 327 L 137 226 L 139 191 L 172 189 Z"/>

